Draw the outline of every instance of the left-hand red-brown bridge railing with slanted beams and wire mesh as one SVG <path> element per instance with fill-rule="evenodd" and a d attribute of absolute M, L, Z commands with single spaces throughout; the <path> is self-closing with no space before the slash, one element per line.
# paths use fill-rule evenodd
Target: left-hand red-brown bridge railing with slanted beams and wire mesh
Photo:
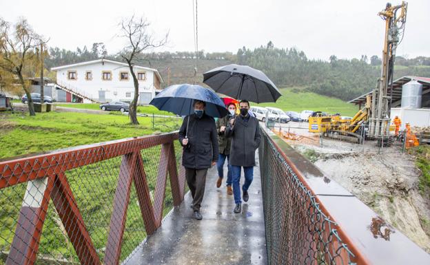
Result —
<path fill-rule="evenodd" d="M 0 161 L 0 264 L 127 260 L 183 201 L 177 138 L 127 138 Z"/>

